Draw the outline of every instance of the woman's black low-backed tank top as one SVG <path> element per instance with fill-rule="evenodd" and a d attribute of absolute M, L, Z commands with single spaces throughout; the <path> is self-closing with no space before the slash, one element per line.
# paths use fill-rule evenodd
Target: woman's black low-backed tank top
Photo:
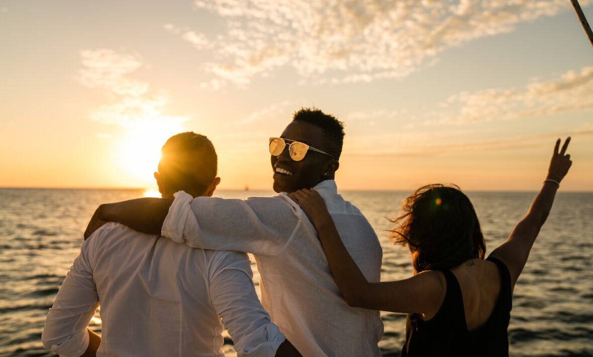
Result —
<path fill-rule="evenodd" d="M 447 280 L 447 293 L 436 315 L 428 321 L 408 314 L 406 343 L 401 357 L 416 356 L 508 356 L 506 330 L 511 317 L 511 275 L 500 260 L 488 257 L 498 266 L 500 292 L 490 318 L 477 330 L 468 332 L 461 289 L 450 270 L 441 270 Z"/>

